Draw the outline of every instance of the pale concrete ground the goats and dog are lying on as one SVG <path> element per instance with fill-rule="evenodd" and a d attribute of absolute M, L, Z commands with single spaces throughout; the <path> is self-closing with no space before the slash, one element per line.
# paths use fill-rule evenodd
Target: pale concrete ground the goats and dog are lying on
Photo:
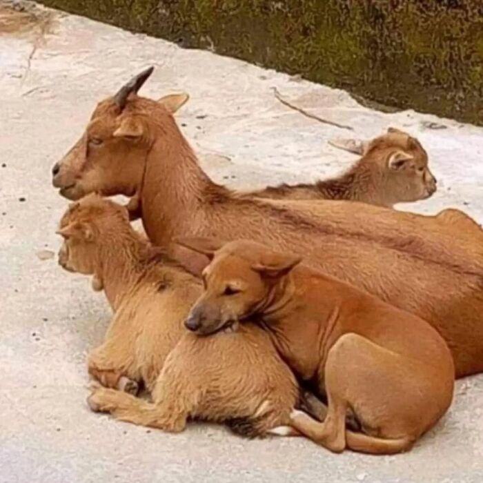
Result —
<path fill-rule="evenodd" d="M 483 376 L 457 383 L 449 414 L 406 455 L 332 455 L 305 440 L 246 441 L 190 424 L 180 435 L 115 422 L 85 404 L 86 351 L 109 311 L 87 279 L 64 273 L 55 228 L 66 201 L 50 168 L 96 101 L 132 74 L 157 70 L 143 93 L 186 90 L 179 122 L 206 170 L 246 188 L 308 180 L 353 156 L 327 139 L 397 126 L 420 138 L 440 190 L 402 209 L 463 208 L 483 221 L 483 129 L 413 111 L 382 114 L 345 92 L 210 52 L 181 50 L 59 12 L 6 16 L 0 1 L 0 482 L 482 482 Z M 23 15 L 23 17 L 22 17 Z M 444 128 L 434 129 L 435 127 Z M 432 126 L 433 128 L 428 128 Z M 457 234 L 455 234 L 457 236 Z"/>

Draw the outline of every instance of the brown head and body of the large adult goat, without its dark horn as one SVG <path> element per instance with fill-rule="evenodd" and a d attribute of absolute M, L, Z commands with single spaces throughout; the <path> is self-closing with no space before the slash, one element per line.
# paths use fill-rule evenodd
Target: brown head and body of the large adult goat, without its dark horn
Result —
<path fill-rule="evenodd" d="M 476 224 L 346 201 L 241 197 L 201 170 L 171 112 L 136 95 L 123 110 L 102 101 L 60 162 L 55 186 L 71 199 L 92 191 L 137 195 L 148 237 L 177 257 L 173 239 L 194 235 L 253 239 L 304 255 L 430 322 L 449 344 L 458 377 L 483 371 L 483 232 Z"/>

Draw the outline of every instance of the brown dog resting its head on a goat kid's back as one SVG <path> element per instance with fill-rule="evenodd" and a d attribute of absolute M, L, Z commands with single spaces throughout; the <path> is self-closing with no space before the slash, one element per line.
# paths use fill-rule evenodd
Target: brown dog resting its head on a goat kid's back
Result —
<path fill-rule="evenodd" d="M 213 259 L 186 326 L 208 334 L 259 319 L 296 375 L 327 395 L 323 423 L 292 414 L 315 442 L 335 452 L 407 451 L 449 408 L 453 359 L 424 320 L 255 242 L 179 243 Z M 346 430 L 348 410 L 362 433 Z"/>

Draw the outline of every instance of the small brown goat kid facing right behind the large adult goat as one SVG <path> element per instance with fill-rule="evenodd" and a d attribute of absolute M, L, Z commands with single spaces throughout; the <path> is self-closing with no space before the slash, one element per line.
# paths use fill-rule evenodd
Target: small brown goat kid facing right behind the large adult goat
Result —
<path fill-rule="evenodd" d="M 315 184 L 282 184 L 248 193 L 271 199 L 345 199 L 392 208 L 431 197 L 436 179 L 417 139 L 389 128 L 373 139 L 362 157 L 343 175 Z"/>

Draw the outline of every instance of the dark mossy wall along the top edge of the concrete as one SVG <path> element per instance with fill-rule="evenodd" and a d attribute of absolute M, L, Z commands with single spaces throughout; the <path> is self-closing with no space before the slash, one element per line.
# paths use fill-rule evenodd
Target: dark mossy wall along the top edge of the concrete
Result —
<path fill-rule="evenodd" d="M 41 1 L 388 106 L 483 125 L 483 0 Z"/>

